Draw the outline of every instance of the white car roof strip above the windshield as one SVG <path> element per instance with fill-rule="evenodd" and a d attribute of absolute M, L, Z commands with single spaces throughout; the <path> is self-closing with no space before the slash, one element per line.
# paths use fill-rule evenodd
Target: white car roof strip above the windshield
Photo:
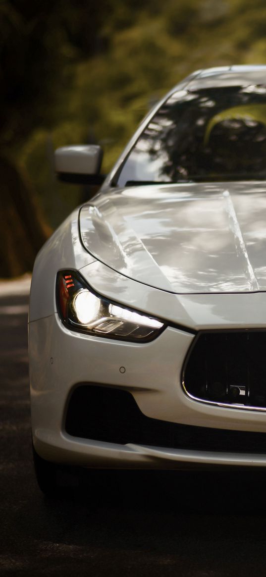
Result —
<path fill-rule="evenodd" d="M 266 84 L 266 65 L 218 66 L 198 70 L 190 77 L 187 90 Z"/>

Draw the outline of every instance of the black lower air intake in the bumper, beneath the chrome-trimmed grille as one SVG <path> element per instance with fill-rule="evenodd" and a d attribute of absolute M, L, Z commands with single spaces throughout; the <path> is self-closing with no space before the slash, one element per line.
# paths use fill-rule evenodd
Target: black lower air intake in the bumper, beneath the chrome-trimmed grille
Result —
<path fill-rule="evenodd" d="M 93 384 L 74 389 L 65 430 L 74 437 L 109 443 L 198 451 L 264 454 L 266 434 L 178 425 L 146 417 L 128 391 Z"/>

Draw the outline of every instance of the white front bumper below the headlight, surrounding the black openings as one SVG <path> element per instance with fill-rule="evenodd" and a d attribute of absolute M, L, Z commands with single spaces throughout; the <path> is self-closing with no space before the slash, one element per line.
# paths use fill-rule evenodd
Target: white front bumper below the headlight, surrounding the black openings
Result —
<path fill-rule="evenodd" d="M 57 314 L 29 323 L 32 432 L 38 454 L 58 463 L 104 468 L 265 466 L 266 451 L 260 455 L 119 445 L 80 439 L 65 432 L 69 395 L 77 383 L 88 381 L 130 391 L 147 417 L 216 429 L 266 432 L 262 411 L 206 405 L 185 394 L 181 373 L 193 338 L 185 331 L 167 328 L 145 344 L 102 339 L 69 331 Z"/>

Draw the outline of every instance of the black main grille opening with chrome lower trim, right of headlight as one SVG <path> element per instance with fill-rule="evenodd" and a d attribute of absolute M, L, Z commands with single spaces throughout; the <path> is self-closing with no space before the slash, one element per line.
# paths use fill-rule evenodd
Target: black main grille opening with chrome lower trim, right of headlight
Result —
<path fill-rule="evenodd" d="M 213 403 L 266 407 L 266 331 L 201 332 L 183 373 L 186 392 Z"/>

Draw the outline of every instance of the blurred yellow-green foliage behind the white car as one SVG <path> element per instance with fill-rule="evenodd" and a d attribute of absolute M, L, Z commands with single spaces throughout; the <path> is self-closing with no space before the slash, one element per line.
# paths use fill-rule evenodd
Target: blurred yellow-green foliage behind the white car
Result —
<path fill-rule="evenodd" d="M 27 170 L 51 227 L 81 198 L 55 181 L 54 148 L 97 141 L 108 171 L 181 78 L 264 63 L 265 31 L 265 0 L 2 0 L 2 148 Z"/>

